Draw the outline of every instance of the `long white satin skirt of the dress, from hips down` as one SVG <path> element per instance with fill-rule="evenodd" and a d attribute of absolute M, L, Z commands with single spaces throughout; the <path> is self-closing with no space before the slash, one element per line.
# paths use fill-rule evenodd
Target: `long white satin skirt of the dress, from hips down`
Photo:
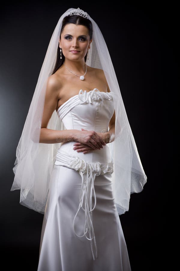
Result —
<path fill-rule="evenodd" d="M 38 271 L 131 271 L 111 171 L 99 174 L 100 167 L 93 170 L 86 164 L 85 175 L 77 163 L 71 160 L 68 167 L 66 162 L 59 161 L 52 171 Z"/>

